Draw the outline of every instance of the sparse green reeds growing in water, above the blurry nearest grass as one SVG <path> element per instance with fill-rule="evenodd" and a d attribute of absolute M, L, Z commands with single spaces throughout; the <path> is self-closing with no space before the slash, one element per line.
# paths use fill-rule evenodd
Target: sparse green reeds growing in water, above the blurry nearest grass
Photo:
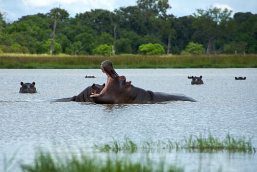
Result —
<path fill-rule="evenodd" d="M 236 139 L 233 138 L 230 134 L 227 134 L 226 138 L 221 141 L 209 134 L 207 138 L 203 137 L 202 135 L 199 137 L 190 136 L 189 139 L 184 139 L 184 141 L 181 143 L 174 143 L 168 140 L 167 142 L 158 141 L 157 143 L 143 142 L 139 145 L 125 137 L 125 141 L 123 143 L 120 143 L 119 141 L 113 141 L 111 144 L 95 144 L 95 148 L 103 152 L 135 152 L 137 150 L 149 151 L 154 149 L 187 149 L 198 150 L 200 152 L 213 152 L 218 150 L 227 150 L 229 152 L 256 152 L 256 149 L 252 146 L 250 138 L 246 141 L 244 137 Z"/>

